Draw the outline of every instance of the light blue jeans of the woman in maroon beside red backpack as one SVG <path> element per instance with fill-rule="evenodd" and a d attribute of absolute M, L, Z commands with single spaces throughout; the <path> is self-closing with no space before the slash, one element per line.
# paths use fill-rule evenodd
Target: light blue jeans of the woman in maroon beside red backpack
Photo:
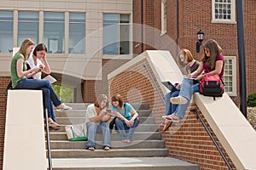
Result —
<path fill-rule="evenodd" d="M 177 105 L 176 111 L 174 111 L 173 114 L 176 114 L 183 119 L 192 98 L 192 94 L 195 94 L 195 92 L 199 92 L 199 83 L 193 84 L 191 79 L 184 78 L 178 95 L 188 99 L 188 102 L 184 105 Z"/>

